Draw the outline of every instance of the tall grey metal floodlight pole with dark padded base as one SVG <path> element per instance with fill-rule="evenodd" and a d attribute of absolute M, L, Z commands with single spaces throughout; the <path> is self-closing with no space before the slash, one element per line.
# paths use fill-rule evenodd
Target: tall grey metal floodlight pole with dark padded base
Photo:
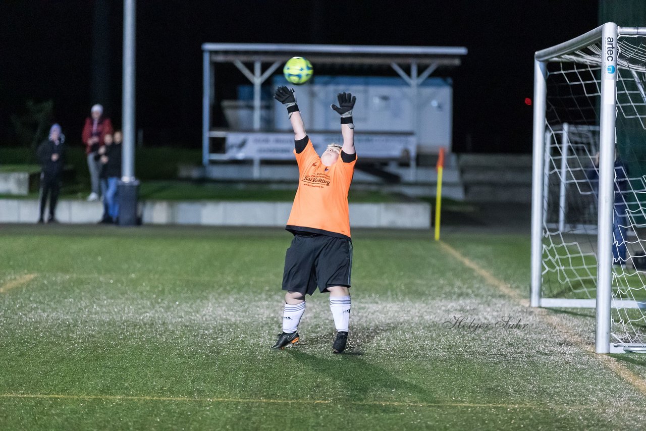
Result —
<path fill-rule="evenodd" d="M 134 177 L 135 0 L 123 0 L 123 147 L 119 183 L 119 224 L 137 224 L 139 182 Z"/>

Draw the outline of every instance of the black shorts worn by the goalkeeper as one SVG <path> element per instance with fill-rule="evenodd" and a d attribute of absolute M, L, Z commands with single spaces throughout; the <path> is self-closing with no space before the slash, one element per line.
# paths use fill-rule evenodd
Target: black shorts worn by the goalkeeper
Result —
<path fill-rule="evenodd" d="M 283 290 L 311 295 L 330 286 L 350 287 L 352 242 L 328 235 L 295 235 L 285 256 Z"/>

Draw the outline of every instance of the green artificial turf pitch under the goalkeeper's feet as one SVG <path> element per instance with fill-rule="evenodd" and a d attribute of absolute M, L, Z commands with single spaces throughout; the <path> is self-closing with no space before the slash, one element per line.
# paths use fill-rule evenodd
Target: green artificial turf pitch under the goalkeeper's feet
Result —
<path fill-rule="evenodd" d="M 353 233 L 348 350 L 327 297 L 275 352 L 282 229 L 1 226 L 0 429 L 636 429 L 646 394 L 428 231 Z M 528 296 L 529 240 L 445 235 Z M 23 280 L 22 283 L 19 281 Z M 518 329 L 449 328 L 455 317 Z M 643 357 L 619 359 L 638 379 Z"/>

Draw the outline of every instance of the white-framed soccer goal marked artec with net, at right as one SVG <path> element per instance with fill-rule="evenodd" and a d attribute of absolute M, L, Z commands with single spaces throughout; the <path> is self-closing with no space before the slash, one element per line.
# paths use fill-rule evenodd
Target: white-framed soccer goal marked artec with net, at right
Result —
<path fill-rule="evenodd" d="M 596 308 L 596 352 L 646 352 L 646 28 L 534 56 L 534 307 Z"/>

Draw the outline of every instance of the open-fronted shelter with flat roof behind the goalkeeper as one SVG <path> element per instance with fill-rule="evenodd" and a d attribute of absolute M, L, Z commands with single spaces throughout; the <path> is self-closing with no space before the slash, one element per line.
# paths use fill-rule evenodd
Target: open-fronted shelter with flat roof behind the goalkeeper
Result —
<path fill-rule="evenodd" d="M 309 59 L 315 69 L 311 83 L 295 87 L 313 141 L 315 136 L 317 141 L 340 136 L 331 121 L 317 123 L 307 116 L 318 119 L 327 115 L 324 105 L 329 110 L 333 94 L 348 89 L 362 103 L 355 114 L 361 131 L 355 138 L 362 147 L 362 160 L 403 160 L 409 167 L 406 180 L 415 182 L 419 154 L 437 154 L 441 147 L 451 149 L 453 105 L 448 74 L 467 54 L 464 47 L 204 43 L 202 52 L 205 167 L 249 160 L 253 162 L 253 178 L 260 178 L 260 162 L 293 158 L 288 123 L 280 113 L 274 113 L 274 103 L 262 100 L 262 90 L 263 86 L 289 85 L 282 78 L 282 67 L 294 56 Z M 213 110 L 221 103 L 215 94 L 218 63 L 233 64 L 253 86 L 248 104 L 251 121 L 242 127 L 231 127 L 232 121 L 229 127 L 214 127 Z M 392 72 L 391 77 L 384 76 L 386 72 Z M 353 76 L 344 79 L 348 73 Z M 361 77 L 364 79 L 357 80 Z M 375 92 L 377 87 L 380 92 Z M 223 138 L 224 151 L 213 145 L 214 140 L 221 142 Z M 365 145 L 359 142 L 362 139 Z"/>

